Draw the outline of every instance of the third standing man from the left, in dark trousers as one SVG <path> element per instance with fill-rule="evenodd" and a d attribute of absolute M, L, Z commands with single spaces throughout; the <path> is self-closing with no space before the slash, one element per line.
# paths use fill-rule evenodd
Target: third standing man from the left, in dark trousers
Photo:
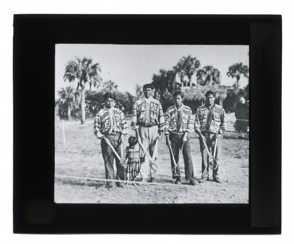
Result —
<path fill-rule="evenodd" d="M 174 105 L 168 108 L 165 120 L 167 145 L 171 145 L 172 149 L 172 152 L 170 152 L 172 178 L 176 179 L 175 184 L 181 184 L 181 176 L 175 176 L 175 173 L 179 174 L 179 172 L 173 170 L 175 164 L 172 160 L 171 153 L 174 155 L 174 159 L 177 163 L 179 161 L 180 148 L 183 146 L 185 179 L 189 181 L 191 185 L 195 185 L 189 139 L 189 134 L 193 129 L 192 110 L 182 103 L 184 98 L 183 92 L 176 91 L 172 97 Z"/>

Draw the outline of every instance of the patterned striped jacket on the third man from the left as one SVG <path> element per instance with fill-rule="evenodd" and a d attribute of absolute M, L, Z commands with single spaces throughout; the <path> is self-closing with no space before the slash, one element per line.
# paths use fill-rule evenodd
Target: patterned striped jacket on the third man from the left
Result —
<path fill-rule="evenodd" d="M 178 119 L 178 109 L 175 105 L 168 108 L 165 120 L 165 135 L 168 136 L 169 133 L 174 133 L 177 135 L 182 135 L 185 132 L 189 135 L 193 129 L 193 117 L 192 110 L 190 107 L 182 104 L 182 126 L 180 130 L 177 130 L 177 119 Z M 180 109 L 179 109 L 180 110 Z"/>

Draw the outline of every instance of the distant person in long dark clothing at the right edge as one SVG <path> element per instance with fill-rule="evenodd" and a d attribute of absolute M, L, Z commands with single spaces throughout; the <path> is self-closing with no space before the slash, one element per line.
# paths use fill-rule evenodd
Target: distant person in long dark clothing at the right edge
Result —
<path fill-rule="evenodd" d="M 245 99 L 241 98 L 240 103 L 238 103 L 236 106 L 236 111 L 235 111 L 236 122 L 234 124 L 235 130 L 238 131 L 238 139 L 246 139 L 244 137 L 244 132 L 247 132 L 248 114 L 249 114 L 248 105 L 245 104 Z"/>

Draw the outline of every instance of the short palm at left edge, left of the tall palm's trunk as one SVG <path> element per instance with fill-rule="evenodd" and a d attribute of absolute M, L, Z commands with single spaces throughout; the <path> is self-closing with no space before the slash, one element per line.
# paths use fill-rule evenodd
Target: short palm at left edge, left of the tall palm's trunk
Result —
<path fill-rule="evenodd" d="M 58 94 L 60 96 L 58 102 L 67 107 L 67 119 L 71 120 L 71 110 L 77 105 L 78 94 L 70 86 L 62 88 Z"/>

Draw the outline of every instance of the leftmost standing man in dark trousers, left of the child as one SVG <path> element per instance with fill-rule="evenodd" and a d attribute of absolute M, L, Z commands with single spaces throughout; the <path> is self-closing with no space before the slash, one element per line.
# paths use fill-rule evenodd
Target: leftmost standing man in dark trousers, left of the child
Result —
<path fill-rule="evenodd" d="M 126 169 L 115 157 L 114 152 L 108 145 L 110 143 L 120 157 L 122 143 L 125 142 L 127 134 L 126 117 L 122 110 L 115 108 L 115 95 L 112 92 L 106 92 L 103 96 L 105 107 L 101 109 L 94 120 L 94 134 L 101 139 L 102 156 L 105 163 L 105 177 L 107 180 L 114 180 L 113 159 L 115 158 L 117 168 L 117 180 L 125 180 Z M 125 183 L 117 183 L 118 187 L 124 187 Z M 115 182 L 107 181 L 109 190 L 114 190 Z"/>

